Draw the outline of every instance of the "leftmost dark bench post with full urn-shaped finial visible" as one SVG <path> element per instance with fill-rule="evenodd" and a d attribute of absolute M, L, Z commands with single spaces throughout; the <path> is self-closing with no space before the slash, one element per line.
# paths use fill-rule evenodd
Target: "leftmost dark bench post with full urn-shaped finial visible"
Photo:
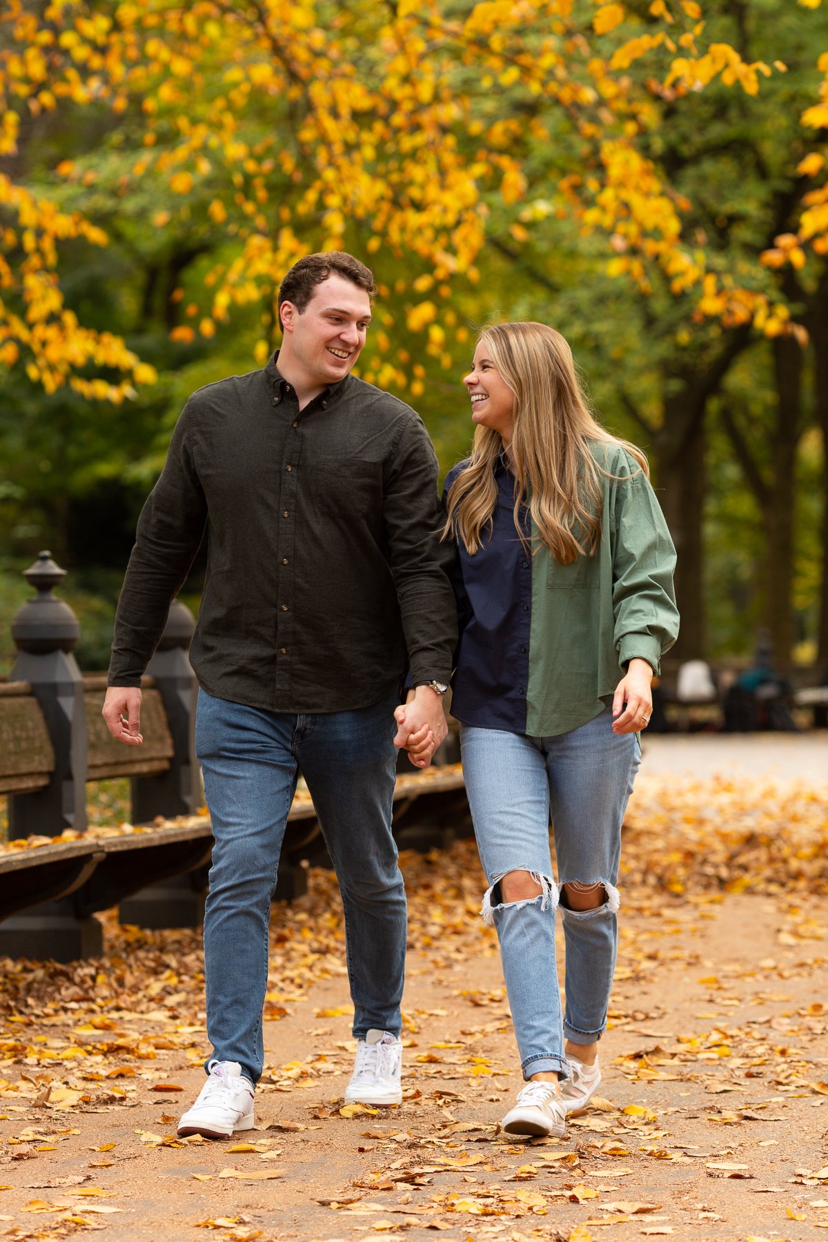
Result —
<path fill-rule="evenodd" d="M 9 795 L 11 838 L 53 837 L 66 828 L 83 832 L 87 826 L 86 704 L 81 669 L 72 655 L 81 627 L 68 604 L 52 595 L 52 587 L 65 576 L 66 570 L 55 564 L 48 551 L 42 551 L 24 571 L 37 595 L 24 604 L 11 622 L 17 647 L 11 679 L 30 683 L 55 750 L 55 771 L 45 789 Z M 93 867 L 91 858 L 63 893 L 79 887 Z M 10 958 L 73 961 L 99 956 L 102 951 L 101 924 L 94 918 L 78 918 L 68 895 L 34 905 L 0 924 L 0 954 Z"/>

